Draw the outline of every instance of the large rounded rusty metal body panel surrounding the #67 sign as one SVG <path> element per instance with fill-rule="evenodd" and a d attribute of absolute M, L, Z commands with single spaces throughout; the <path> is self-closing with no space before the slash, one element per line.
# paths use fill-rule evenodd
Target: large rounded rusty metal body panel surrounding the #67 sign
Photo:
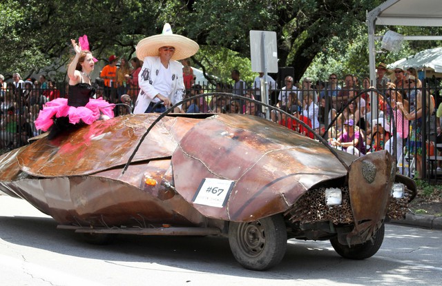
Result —
<path fill-rule="evenodd" d="M 340 154 L 348 163 L 355 158 Z M 235 181 L 224 207 L 193 204 L 205 216 L 231 221 L 284 212 L 312 185 L 347 174 L 321 143 L 255 116 L 227 114 L 189 130 L 172 164 L 175 187 L 189 202 L 204 178 Z"/>

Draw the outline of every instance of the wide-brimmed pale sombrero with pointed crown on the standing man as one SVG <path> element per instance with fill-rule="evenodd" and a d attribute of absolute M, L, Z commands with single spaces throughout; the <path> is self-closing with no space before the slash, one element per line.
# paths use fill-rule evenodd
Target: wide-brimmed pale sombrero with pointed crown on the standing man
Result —
<path fill-rule="evenodd" d="M 145 57 L 158 56 L 160 54 L 158 49 L 164 46 L 175 48 L 172 57 L 172 60 L 175 61 L 189 58 L 200 49 L 195 41 L 179 34 L 173 34 L 171 25 L 165 23 L 162 34 L 144 38 L 137 44 L 137 57 L 143 61 Z"/>

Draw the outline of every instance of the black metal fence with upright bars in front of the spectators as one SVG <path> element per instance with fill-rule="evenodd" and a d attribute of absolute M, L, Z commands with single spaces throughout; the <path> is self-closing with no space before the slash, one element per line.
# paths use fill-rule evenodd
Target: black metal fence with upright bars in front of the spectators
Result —
<path fill-rule="evenodd" d="M 442 135 L 440 118 L 436 117 L 436 109 L 442 100 L 439 87 L 429 81 L 419 89 L 391 88 L 390 85 L 378 90 L 361 87 L 332 89 L 327 88 L 327 85 L 309 85 L 307 88 L 271 86 L 269 103 L 275 106 L 271 110 L 247 101 L 247 98 L 260 99 L 261 94 L 258 87 L 246 86 L 240 85 L 241 88 L 235 90 L 233 85 L 222 83 L 213 87 L 194 85 L 193 89 L 186 90 L 184 97 L 207 92 L 225 94 L 195 99 L 182 108 L 189 113 L 240 113 L 261 117 L 266 117 L 267 113 L 270 120 L 313 138 L 313 134 L 296 120 L 279 112 L 276 109 L 278 106 L 307 123 L 315 132 L 328 139 L 330 144 L 342 137 L 352 120 L 355 133 L 359 134 L 358 143 L 354 144 L 354 148 L 339 145 L 337 148 L 361 156 L 367 152 L 387 149 L 395 156 L 401 174 L 442 181 Z M 138 92 L 138 88 L 130 86 L 97 86 L 97 98 L 102 96 L 110 103 L 121 103 L 122 94 L 128 94 L 132 108 Z M 246 98 L 233 100 L 228 93 Z M 68 85 L 65 83 L 44 89 L 30 84 L 19 88 L 8 85 L 8 88 L 1 90 L 0 149 L 5 152 L 26 145 L 30 137 L 40 134 L 41 131 L 36 130 L 34 125 L 39 110 L 47 101 L 66 97 L 66 94 Z M 397 108 L 397 102 L 406 105 L 405 112 L 411 120 L 407 120 L 405 113 Z M 116 116 L 127 113 L 125 107 L 115 108 Z"/>

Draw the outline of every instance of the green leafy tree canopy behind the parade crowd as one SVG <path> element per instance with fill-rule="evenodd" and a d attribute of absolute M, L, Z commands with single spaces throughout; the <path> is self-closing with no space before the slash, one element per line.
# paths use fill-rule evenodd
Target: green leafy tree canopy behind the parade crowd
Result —
<path fill-rule="evenodd" d="M 278 65 L 291 66 L 295 79 L 307 74 L 325 78 L 337 74 L 368 74 L 367 10 L 381 0 L 3 0 L 0 4 L 0 73 L 10 78 L 48 72 L 66 66 L 73 55 L 70 39 L 87 34 L 97 59 L 109 54 L 135 56 L 140 39 L 159 34 L 164 23 L 173 32 L 200 44 L 193 63 L 207 74 L 227 81 L 230 71 L 242 79 L 255 76 L 250 68 L 249 30 L 277 34 Z M 439 28 L 392 28 L 427 33 Z M 406 43 L 398 53 L 378 56 L 400 59 L 428 43 Z M 46 70 L 42 70 L 46 68 Z M 64 74 L 60 74 L 64 79 Z"/>

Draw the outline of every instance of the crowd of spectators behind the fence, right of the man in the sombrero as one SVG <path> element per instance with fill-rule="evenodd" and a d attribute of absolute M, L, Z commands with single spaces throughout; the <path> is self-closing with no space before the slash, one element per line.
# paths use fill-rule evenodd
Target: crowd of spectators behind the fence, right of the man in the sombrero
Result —
<path fill-rule="evenodd" d="M 405 70 L 396 67 L 387 70 L 384 63 L 376 68 L 376 83 L 370 83 L 366 76 L 360 81 L 353 74 L 340 77 L 338 73 L 330 74 L 328 81 L 313 81 L 307 77 L 300 83 L 294 83 L 292 76 L 286 76 L 280 84 L 281 88 L 271 77 L 265 81 L 268 83 L 271 105 L 300 119 L 317 134 L 329 139 L 330 145 L 356 156 L 388 150 L 395 156 L 398 166 L 410 165 L 410 158 L 414 157 L 416 177 L 421 176 L 423 146 L 428 145 L 423 143 L 423 129 L 426 129 L 426 140 L 434 141 L 430 145 L 436 147 L 434 152 L 427 150 L 427 156 L 436 155 L 433 158 L 436 159 L 437 170 L 441 170 L 442 100 L 439 86 L 427 83 L 423 90 L 423 83 L 413 68 Z M 231 84 L 218 83 L 215 90 L 206 91 L 229 92 L 260 99 L 262 89 L 258 83 L 264 79 L 263 73 L 256 76 L 250 85 L 240 79 L 238 70 L 232 71 L 231 79 Z M 195 87 L 201 93 L 201 86 Z M 188 96 L 193 96 L 193 93 L 189 92 Z M 256 103 L 224 96 L 209 96 L 204 100 L 205 103 L 209 105 L 209 112 L 264 117 L 263 110 Z M 187 112 L 203 111 L 195 101 Z M 305 136 L 314 137 L 307 128 L 286 114 L 275 109 L 270 115 L 272 121 Z M 403 172 L 402 168 L 400 170 Z"/>

